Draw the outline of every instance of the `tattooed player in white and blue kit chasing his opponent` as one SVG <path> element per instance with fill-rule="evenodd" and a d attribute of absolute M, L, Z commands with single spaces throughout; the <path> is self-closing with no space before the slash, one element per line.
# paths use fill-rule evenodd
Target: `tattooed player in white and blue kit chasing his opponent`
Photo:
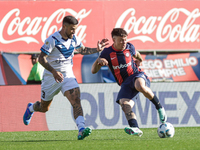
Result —
<path fill-rule="evenodd" d="M 41 47 L 39 62 L 45 68 L 41 84 L 41 101 L 28 103 L 23 121 L 28 125 L 35 111 L 47 112 L 53 97 L 61 91 L 73 107 L 74 119 L 79 130 L 78 140 L 82 140 L 90 135 L 91 129 L 85 128 L 80 89 L 72 70 L 74 50 L 83 55 L 97 53 L 108 44 L 108 39 L 98 41 L 97 48 L 85 47 L 75 35 L 77 26 L 78 20 L 75 17 L 64 17 L 62 29 L 50 35 Z"/>

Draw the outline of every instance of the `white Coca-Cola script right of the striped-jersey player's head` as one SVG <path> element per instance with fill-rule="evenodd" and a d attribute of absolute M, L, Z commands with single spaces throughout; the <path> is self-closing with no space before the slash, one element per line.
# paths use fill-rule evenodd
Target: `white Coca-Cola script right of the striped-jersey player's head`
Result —
<path fill-rule="evenodd" d="M 142 42 L 199 42 L 200 23 L 195 23 L 200 19 L 199 9 L 188 11 L 185 8 L 173 8 L 164 16 L 140 16 L 136 18 L 136 10 L 129 8 L 122 13 L 116 22 L 116 28 L 124 28 L 128 33 L 135 36 L 130 37 L 128 41 L 140 40 Z M 180 24 L 179 17 L 184 15 L 184 22 Z M 197 22 L 197 21 L 196 21 Z M 172 24 L 175 24 L 174 26 Z M 152 38 L 150 35 L 156 37 Z M 132 35 L 132 34 L 130 34 Z"/>

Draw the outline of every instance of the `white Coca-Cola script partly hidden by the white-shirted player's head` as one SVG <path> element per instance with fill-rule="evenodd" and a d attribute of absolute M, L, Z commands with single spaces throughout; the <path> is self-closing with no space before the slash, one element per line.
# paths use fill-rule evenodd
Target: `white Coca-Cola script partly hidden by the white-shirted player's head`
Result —
<path fill-rule="evenodd" d="M 0 42 L 3 44 L 19 41 L 24 41 L 27 44 L 31 42 L 39 43 L 39 39 L 34 37 L 38 33 L 41 33 L 41 41 L 44 42 L 49 35 L 61 28 L 62 19 L 66 14 L 75 16 L 79 20 L 80 24 L 81 21 L 91 13 L 91 11 L 92 10 L 86 12 L 85 9 L 82 9 L 79 12 L 76 12 L 73 9 L 58 9 L 49 17 L 25 17 L 22 19 L 20 18 L 20 9 L 12 9 L 1 20 Z M 10 20 L 10 18 L 13 19 Z M 55 24 L 52 24 L 52 22 L 55 22 Z M 79 25 L 76 30 L 76 34 L 81 40 L 86 36 L 86 28 L 86 25 Z M 12 38 L 12 35 L 14 34 L 17 34 L 18 37 Z M 8 35 L 9 39 L 4 35 Z"/>

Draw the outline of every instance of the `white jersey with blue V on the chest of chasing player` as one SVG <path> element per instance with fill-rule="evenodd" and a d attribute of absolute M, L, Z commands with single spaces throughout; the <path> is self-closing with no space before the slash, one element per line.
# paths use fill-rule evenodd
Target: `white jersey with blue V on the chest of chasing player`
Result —
<path fill-rule="evenodd" d="M 74 77 L 72 66 L 74 50 L 80 48 L 82 42 L 76 35 L 72 39 L 63 39 L 59 31 L 50 35 L 44 45 L 41 47 L 41 51 L 48 55 L 48 63 L 59 72 L 67 73 L 68 77 Z M 50 73 L 45 69 L 44 73 Z"/>

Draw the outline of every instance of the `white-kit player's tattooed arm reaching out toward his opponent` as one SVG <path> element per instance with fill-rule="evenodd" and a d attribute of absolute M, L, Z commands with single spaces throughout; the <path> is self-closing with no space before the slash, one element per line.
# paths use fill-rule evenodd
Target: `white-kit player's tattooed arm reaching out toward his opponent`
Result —
<path fill-rule="evenodd" d="M 82 55 L 97 53 L 97 52 L 102 51 L 104 47 L 109 44 L 107 42 L 108 42 L 108 39 L 103 39 L 101 40 L 101 42 L 100 41 L 97 42 L 97 48 L 89 48 L 89 47 L 82 46 L 76 50 Z"/>

